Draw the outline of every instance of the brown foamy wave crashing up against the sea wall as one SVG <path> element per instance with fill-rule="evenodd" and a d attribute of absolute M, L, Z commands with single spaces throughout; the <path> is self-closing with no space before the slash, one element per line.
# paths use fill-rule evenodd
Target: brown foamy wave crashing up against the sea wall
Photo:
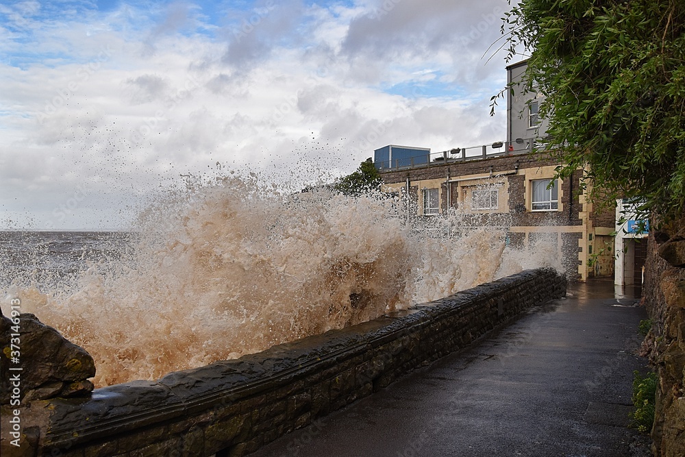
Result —
<path fill-rule="evenodd" d="M 92 264 L 60 288 L 18 281 L 8 296 L 86 348 L 103 386 L 237 358 L 549 264 L 506 249 L 499 230 L 425 236 L 398 208 L 377 195 L 285 194 L 225 177 L 151 206 L 130 256 Z"/>

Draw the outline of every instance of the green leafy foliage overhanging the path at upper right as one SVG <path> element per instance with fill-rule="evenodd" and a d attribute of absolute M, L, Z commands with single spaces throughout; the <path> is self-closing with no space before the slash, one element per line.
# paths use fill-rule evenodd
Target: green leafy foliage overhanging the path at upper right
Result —
<path fill-rule="evenodd" d="M 560 176 L 585 167 L 598 203 L 635 197 L 643 213 L 682 214 L 685 1 L 522 0 L 504 19 L 509 59 L 530 53 L 527 90 L 546 97 Z"/>

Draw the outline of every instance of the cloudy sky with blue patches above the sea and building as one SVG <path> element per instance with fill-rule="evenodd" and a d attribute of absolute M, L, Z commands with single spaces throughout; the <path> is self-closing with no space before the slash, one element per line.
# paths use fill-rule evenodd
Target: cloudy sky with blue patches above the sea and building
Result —
<path fill-rule="evenodd" d="M 125 228 L 188 173 L 299 185 L 350 173 L 388 144 L 501 140 L 504 108 L 490 117 L 489 103 L 506 62 L 488 47 L 508 9 L 4 1 L 0 230 Z"/>

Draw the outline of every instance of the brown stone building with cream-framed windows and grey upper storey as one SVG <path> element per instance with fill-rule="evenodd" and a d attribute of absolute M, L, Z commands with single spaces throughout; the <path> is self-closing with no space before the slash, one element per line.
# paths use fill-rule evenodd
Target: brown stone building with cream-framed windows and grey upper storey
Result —
<path fill-rule="evenodd" d="M 525 62 L 509 66 L 510 82 L 520 81 L 524 70 Z M 505 230 L 512 247 L 551 243 L 572 279 L 611 276 L 614 212 L 597 212 L 586 201 L 582 170 L 555 179 L 560 163 L 536 143 L 545 135 L 545 124 L 537 107 L 527 103 L 540 97 L 520 87 L 508 96 L 506 141 L 427 153 L 410 165 L 406 158 L 404 165 L 377 162 L 382 188 L 401 197 L 408 218 L 427 221 L 458 212 L 464 228 Z"/>

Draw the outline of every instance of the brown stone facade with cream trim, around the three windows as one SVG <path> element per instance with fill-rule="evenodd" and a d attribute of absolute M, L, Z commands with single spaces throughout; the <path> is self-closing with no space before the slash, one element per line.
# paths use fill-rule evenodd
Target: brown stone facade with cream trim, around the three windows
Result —
<path fill-rule="evenodd" d="M 449 210 L 459 212 L 464 228 L 501 227 L 508 231 L 508 243 L 512 247 L 536 249 L 545 241 L 556 246 L 560 262 L 571 279 L 586 280 L 588 277 L 610 276 L 611 262 L 599 256 L 601 265 L 588 264 L 597 251 L 597 237 L 605 251 L 613 252 L 612 237 L 614 219 L 594 211 L 592 203 L 582 193 L 583 171 L 578 170 L 569 178 L 558 182 L 558 207 L 554 210 L 534 211 L 532 208 L 532 182 L 551 180 L 558 162 L 546 154 L 501 156 L 484 160 L 472 160 L 451 164 L 429 166 L 381 173 L 384 189 L 409 195 L 416 205 L 411 206 L 408 218 L 424 218 L 423 189 L 438 189 L 440 212 L 430 217 L 444 217 Z M 474 190 L 497 189 L 497 208 L 473 209 Z M 603 252 L 605 252 L 603 251 Z"/>

